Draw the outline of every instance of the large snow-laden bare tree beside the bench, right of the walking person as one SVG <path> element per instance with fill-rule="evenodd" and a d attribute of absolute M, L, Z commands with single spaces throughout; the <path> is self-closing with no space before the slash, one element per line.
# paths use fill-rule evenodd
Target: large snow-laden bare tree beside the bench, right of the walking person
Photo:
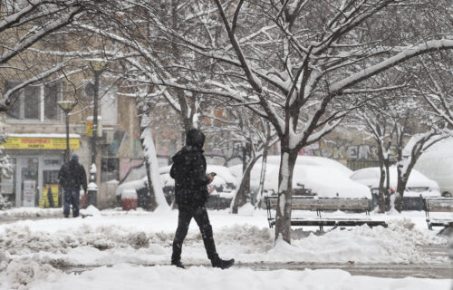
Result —
<path fill-rule="evenodd" d="M 392 42 L 374 34 L 371 25 L 386 15 L 410 14 L 422 5 L 411 1 L 406 5 L 391 0 L 215 3 L 215 13 L 200 17 L 199 25 L 207 31 L 204 41 L 157 22 L 156 26 L 181 47 L 215 61 L 222 78 L 234 79 L 240 87 L 215 78 L 203 88 L 168 78 L 153 83 L 242 102 L 273 124 L 282 149 L 275 237 L 290 242 L 291 180 L 298 151 L 333 131 L 362 100 L 349 99 L 353 102 L 336 107 L 341 109 L 334 104 L 344 95 L 386 90 L 367 81 L 420 54 L 451 49 L 453 41 L 430 37 L 419 43 L 417 39 L 425 35 L 401 34 Z M 203 8 L 210 11 L 212 6 Z M 218 35 L 218 19 L 226 35 L 221 32 L 221 41 L 212 41 Z M 404 25 L 391 28 L 398 32 Z"/>

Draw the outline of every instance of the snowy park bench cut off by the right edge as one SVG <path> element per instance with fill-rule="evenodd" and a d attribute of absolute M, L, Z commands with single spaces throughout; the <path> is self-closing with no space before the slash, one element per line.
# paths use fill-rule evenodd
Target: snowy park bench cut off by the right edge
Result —
<path fill-rule="evenodd" d="M 449 218 L 431 218 L 430 212 L 453 212 L 453 198 L 424 198 L 425 215 L 428 228 L 443 227 L 438 235 L 442 234 L 448 227 L 453 226 L 453 217 Z"/>

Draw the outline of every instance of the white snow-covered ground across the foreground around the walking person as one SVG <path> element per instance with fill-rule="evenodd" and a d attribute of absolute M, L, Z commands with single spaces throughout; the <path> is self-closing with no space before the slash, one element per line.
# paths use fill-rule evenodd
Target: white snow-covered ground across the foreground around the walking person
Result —
<path fill-rule="evenodd" d="M 160 212 L 85 210 L 88 218 L 53 218 L 55 209 L 41 209 L 43 219 L 0 224 L 0 289 L 448 289 L 448 280 L 390 279 L 351 276 L 341 270 L 253 271 L 212 269 L 195 222 L 184 243 L 181 271 L 169 266 L 178 210 Z M 61 211 L 61 209 L 60 209 Z M 21 213 L 22 212 L 22 213 Z M 36 209 L 0 211 L 5 217 L 35 217 Z M 298 215 L 313 217 L 313 212 Z M 328 216 L 348 215 L 342 212 Z M 363 214 L 358 214 L 363 216 Z M 439 217 L 441 217 L 440 213 Z M 446 214 L 445 214 L 446 215 Z M 236 263 L 396 263 L 434 265 L 448 256 L 429 256 L 421 246 L 447 245 L 445 237 L 429 231 L 424 212 L 379 215 L 388 228 L 352 227 L 325 235 L 294 229 L 292 244 L 275 244 L 264 210 L 242 208 L 209 211 L 217 252 Z M 315 230 L 315 228 L 311 228 Z M 158 265 L 158 266 L 155 266 Z M 80 275 L 62 271 L 82 267 Z M 178 277 L 178 278 L 175 278 Z M 370 285 L 369 285 L 370 284 Z M 372 288 L 374 287 L 374 288 Z"/>

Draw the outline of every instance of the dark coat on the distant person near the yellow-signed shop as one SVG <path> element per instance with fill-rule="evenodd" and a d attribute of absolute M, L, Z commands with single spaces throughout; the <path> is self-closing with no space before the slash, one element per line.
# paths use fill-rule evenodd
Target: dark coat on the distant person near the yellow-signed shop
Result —
<path fill-rule="evenodd" d="M 86 173 L 83 166 L 76 160 L 63 164 L 58 172 L 58 180 L 63 189 L 82 189 L 87 192 Z"/>

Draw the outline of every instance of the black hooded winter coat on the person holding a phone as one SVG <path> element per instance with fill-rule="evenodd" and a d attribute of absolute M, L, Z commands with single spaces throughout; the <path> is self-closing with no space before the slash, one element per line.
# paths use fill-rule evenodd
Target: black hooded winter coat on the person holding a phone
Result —
<path fill-rule="evenodd" d="M 205 135 L 198 130 L 188 131 L 186 146 L 172 158 L 170 176 L 175 179 L 175 199 L 178 206 L 197 208 L 203 206 L 208 197 L 206 159 L 203 156 Z"/>

